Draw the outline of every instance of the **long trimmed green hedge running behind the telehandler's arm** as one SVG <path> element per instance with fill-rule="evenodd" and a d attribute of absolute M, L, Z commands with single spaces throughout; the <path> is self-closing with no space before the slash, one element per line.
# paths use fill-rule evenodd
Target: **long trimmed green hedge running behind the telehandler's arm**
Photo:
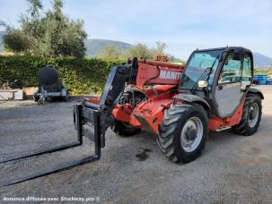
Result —
<path fill-rule="evenodd" d="M 17 80 L 21 86 L 38 86 L 37 74 L 44 64 L 57 66 L 72 94 L 101 92 L 110 68 L 124 60 L 97 58 L 46 58 L 31 55 L 0 56 L 0 81 Z"/>

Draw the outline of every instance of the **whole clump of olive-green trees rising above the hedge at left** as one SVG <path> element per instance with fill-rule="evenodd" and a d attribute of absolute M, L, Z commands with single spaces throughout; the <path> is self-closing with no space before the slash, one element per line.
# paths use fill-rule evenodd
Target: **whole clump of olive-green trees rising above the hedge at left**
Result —
<path fill-rule="evenodd" d="M 4 44 L 12 51 L 20 50 L 40 56 L 83 57 L 86 48 L 83 21 L 70 20 L 63 12 L 63 1 L 54 0 L 52 9 L 40 14 L 43 6 L 40 0 L 28 0 L 30 8 L 20 18 L 21 29 L 6 27 Z M 5 40 L 6 38 L 6 40 Z M 24 40 L 22 43 L 20 40 Z M 21 42 L 14 47 L 14 42 Z"/>

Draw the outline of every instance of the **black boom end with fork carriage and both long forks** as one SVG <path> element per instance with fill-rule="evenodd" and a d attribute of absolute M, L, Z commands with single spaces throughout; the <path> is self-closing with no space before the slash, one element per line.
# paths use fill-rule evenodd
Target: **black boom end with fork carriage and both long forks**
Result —
<path fill-rule="evenodd" d="M 0 163 L 10 162 L 27 157 L 35 157 L 71 149 L 83 145 L 83 136 L 92 140 L 94 143 L 94 155 L 83 157 L 74 161 L 66 162 L 53 168 L 48 168 L 41 172 L 32 173 L 13 180 L 4 181 L 4 185 L 12 185 L 14 183 L 22 183 L 35 179 L 44 175 L 54 174 L 57 172 L 70 169 L 75 166 L 81 166 L 101 158 L 101 148 L 105 147 L 105 132 L 108 127 L 114 122 L 114 115 L 111 114 L 112 109 L 118 103 L 118 99 L 122 95 L 126 83 L 136 82 L 137 63 L 136 58 L 129 64 L 112 67 L 104 90 L 101 94 L 101 99 L 98 104 L 94 104 L 88 100 L 83 100 L 82 104 L 74 106 L 74 126 L 77 132 L 77 142 L 63 145 L 53 149 L 46 149 L 43 151 L 34 152 L 30 155 L 22 157 L 13 157 L 2 160 Z"/>

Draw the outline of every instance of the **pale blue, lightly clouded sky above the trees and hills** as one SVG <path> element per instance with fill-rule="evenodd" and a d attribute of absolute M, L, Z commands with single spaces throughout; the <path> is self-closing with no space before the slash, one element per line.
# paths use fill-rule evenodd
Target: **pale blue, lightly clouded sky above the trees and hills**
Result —
<path fill-rule="evenodd" d="M 51 1 L 43 0 L 45 9 Z M 82 19 L 88 38 L 130 44 L 156 41 L 187 59 L 196 48 L 241 46 L 272 57 L 271 0 L 65 0 L 64 12 Z M 26 0 L 0 0 L 0 21 L 18 27 Z M 3 28 L 0 28 L 3 30 Z"/>

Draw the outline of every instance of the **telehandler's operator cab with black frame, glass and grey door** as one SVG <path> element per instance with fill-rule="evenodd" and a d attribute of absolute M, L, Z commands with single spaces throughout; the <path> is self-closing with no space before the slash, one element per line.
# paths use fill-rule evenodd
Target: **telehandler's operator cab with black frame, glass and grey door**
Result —
<path fill-rule="evenodd" d="M 213 114 L 225 117 L 240 105 L 252 75 L 253 57 L 246 48 L 196 50 L 182 73 L 179 89 L 205 99 Z"/>

